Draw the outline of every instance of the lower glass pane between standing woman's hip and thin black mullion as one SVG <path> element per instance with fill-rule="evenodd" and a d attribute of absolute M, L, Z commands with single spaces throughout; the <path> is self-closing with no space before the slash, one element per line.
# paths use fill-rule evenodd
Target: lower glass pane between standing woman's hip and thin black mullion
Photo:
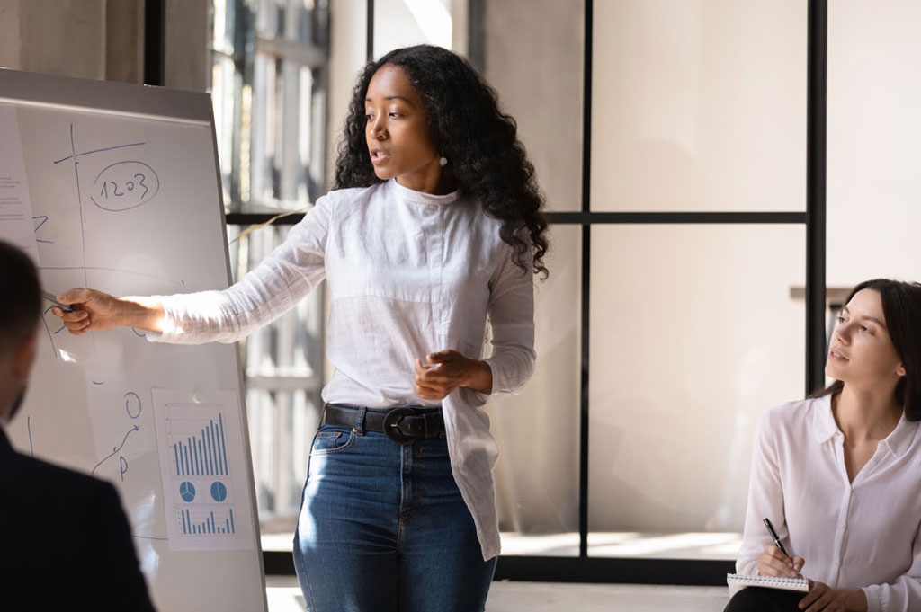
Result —
<path fill-rule="evenodd" d="M 534 377 L 490 406 L 506 555 L 578 555 L 581 227 L 554 225 L 550 276 L 535 285 Z"/>

